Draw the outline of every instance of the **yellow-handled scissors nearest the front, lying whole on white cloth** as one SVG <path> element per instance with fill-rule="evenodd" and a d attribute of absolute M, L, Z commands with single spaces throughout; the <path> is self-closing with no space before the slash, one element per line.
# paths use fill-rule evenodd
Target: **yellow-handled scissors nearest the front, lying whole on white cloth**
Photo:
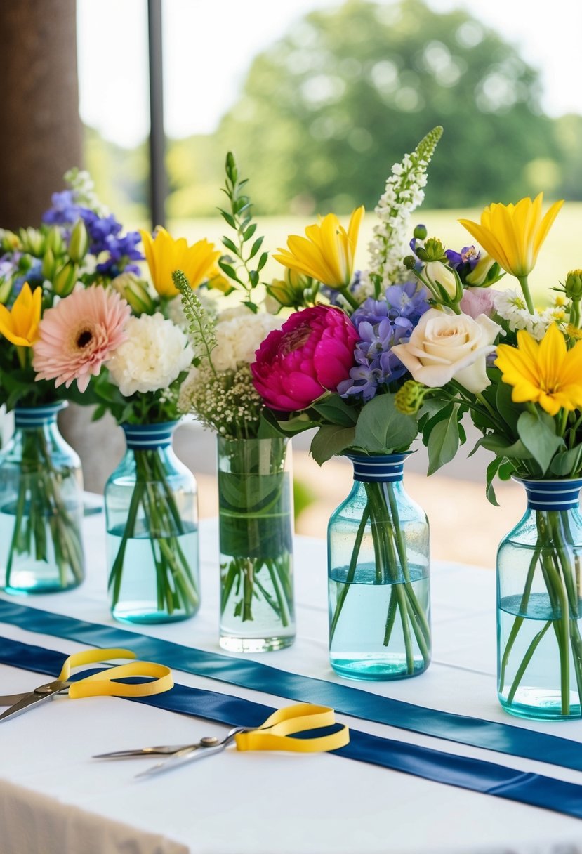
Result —
<path fill-rule="evenodd" d="M 341 726 L 335 733 L 327 735 L 310 735 L 305 739 L 289 738 L 296 733 L 311 733 L 322 727 L 335 724 L 335 712 L 325 705 L 298 703 L 288 705 L 274 712 L 261 723 L 259 727 L 235 727 L 230 729 L 224 739 L 205 736 L 191 745 L 162 745 L 158 747 L 138 747 L 135 750 L 120 750 L 110 753 L 100 753 L 94 759 L 125 759 L 134 757 L 169 756 L 166 762 L 157 763 L 151 768 L 141 771 L 137 777 L 148 777 L 179 768 L 180 765 L 194 762 L 207 756 L 215 756 L 225 750 L 233 741 L 236 749 L 250 750 L 280 750 L 296 753 L 316 753 L 338 750 L 350 740 L 346 726 Z"/>

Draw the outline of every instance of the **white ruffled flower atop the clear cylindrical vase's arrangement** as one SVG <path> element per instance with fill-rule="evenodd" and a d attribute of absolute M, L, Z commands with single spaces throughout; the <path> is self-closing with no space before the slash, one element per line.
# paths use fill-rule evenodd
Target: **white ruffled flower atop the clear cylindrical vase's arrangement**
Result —
<path fill-rule="evenodd" d="M 245 307 L 228 308 L 218 317 L 217 346 L 212 350 L 212 365 L 216 371 L 236 371 L 245 362 L 254 361 L 260 343 L 274 329 L 280 329 L 283 318 Z"/>

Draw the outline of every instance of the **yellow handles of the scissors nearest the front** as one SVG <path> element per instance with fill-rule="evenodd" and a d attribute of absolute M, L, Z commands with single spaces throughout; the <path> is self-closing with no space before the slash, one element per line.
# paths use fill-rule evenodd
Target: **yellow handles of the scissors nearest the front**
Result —
<path fill-rule="evenodd" d="M 274 712 L 260 727 L 235 736 L 238 750 L 284 750 L 296 753 L 316 753 L 338 750 L 350 740 L 350 731 L 342 726 L 330 735 L 309 739 L 293 739 L 294 733 L 329 727 L 335 723 L 335 712 L 326 705 L 298 703 Z"/>

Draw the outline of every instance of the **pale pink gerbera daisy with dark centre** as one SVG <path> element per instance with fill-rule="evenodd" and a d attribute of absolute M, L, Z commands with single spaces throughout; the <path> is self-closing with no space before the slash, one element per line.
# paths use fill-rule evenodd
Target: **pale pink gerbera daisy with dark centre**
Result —
<path fill-rule="evenodd" d="M 32 367 L 36 379 L 54 379 L 67 389 L 77 380 L 79 391 L 89 385 L 105 360 L 127 337 L 124 326 L 131 308 L 119 294 L 93 285 L 44 312 L 38 325 Z"/>

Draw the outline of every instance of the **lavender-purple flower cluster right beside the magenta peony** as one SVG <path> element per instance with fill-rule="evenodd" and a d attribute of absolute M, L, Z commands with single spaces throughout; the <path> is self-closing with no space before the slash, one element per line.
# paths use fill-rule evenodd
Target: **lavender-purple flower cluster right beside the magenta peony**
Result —
<path fill-rule="evenodd" d="M 393 284 L 386 290 L 386 299 L 369 297 L 364 301 L 351 318 L 360 337 L 354 350 L 356 365 L 350 370 L 350 378 L 338 386 L 338 394 L 361 395 L 367 403 L 379 386 L 402 377 L 406 368 L 392 348 L 409 340 L 428 308 L 427 292 L 416 282 Z"/>

